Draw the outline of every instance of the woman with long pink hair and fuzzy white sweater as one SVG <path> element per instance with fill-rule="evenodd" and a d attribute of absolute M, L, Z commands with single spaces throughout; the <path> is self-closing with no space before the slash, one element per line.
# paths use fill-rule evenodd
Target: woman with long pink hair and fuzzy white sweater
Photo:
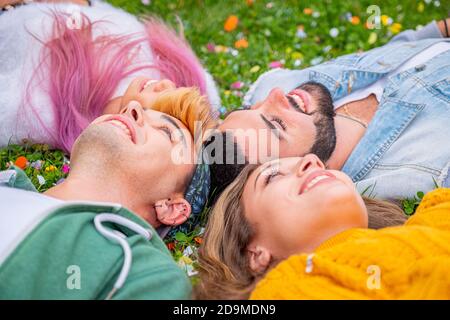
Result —
<path fill-rule="evenodd" d="M 119 112 L 136 83 L 151 87 L 147 108 L 179 87 L 220 105 L 212 77 L 160 20 L 102 1 L 25 2 L 0 11 L 0 147 L 29 139 L 69 152 L 93 119 Z"/>

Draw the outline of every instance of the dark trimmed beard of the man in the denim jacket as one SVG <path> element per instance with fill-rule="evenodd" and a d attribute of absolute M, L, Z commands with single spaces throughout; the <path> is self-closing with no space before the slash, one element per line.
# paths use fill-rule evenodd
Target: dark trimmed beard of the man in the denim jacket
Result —
<path fill-rule="evenodd" d="M 314 125 L 316 126 L 316 139 L 308 153 L 313 153 L 323 162 L 330 159 L 336 148 L 336 128 L 334 126 L 333 99 L 328 89 L 317 82 L 305 82 L 298 89 L 308 92 L 317 103 Z"/>

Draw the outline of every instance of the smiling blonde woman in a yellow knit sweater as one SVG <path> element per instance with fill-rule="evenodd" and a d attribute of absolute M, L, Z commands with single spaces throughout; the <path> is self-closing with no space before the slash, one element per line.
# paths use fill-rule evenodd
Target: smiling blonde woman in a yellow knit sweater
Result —
<path fill-rule="evenodd" d="M 450 189 L 404 220 L 314 155 L 248 166 L 212 210 L 196 297 L 449 299 Z"/>

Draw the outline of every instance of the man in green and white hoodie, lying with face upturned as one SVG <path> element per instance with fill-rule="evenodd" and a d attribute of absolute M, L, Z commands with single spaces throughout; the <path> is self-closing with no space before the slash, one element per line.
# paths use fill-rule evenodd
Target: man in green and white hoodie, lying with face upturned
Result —
<path fill-rule="evenodd" d="M 0 299 L 190 297 L 155 228 L 189 217 L 195 166 L 171 161 L 180 145 L 162 124 L 183 126 L 135 104 L 98 118 L 75 142 L 68 178 L 45 194 L 20 169 L 0 173 Z M 193 152 L 189 131 L 179 134 Z"/>

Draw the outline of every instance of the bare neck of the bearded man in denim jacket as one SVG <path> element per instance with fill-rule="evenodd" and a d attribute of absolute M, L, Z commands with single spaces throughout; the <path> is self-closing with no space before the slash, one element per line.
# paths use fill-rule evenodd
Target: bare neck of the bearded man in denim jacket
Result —
<path fill-rule="evenodd" d="M 327 162 L 330 169 L 341 170 L 353 149 L 363 137 L 366 129 L 356 121 L 336 116 L 336 148 Z"/>

